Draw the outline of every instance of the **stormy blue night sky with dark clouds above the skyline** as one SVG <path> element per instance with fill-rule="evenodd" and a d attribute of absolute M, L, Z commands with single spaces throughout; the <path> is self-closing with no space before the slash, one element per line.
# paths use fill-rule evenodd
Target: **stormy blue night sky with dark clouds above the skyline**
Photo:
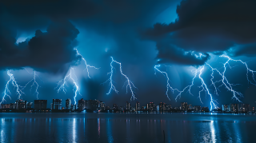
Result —
<path fill-rule="evenodd" d="M 113 57 L 122 63 L 122 73 L 133 81 L 135 99 L 141 105 L 150 101 L 166 102 L 179 106 L 186 101 L 192 105 L 210 106 L 210 96 L 205 92 L 198 98 L 202 81 L 196 77 L 191 87 L 192 96 L 182 93 L 175 101 L 177 92 L 166 96 L 166 77 L 155 72 L 154 66 L 168 73 L 170 86 L 182 90 L 191 85 L 196 70 L 202 66 L 207 88 L 218 107 L 238 103 L 232 93 L 221 86 L 218 95 L 211 85 L 211 70 L 206 63 L 223 72 L 227 58 L 246 62 L 256 71 L 256 2 L 249 0 L 169 0 L 169 1 L 1 1 L 0 2 L 0 92 L 4 92 L 13 73 L 18 85 L 24 86 L 38 73 L 38 98 L 48 100 L 66 98 L 74 104 L 74 83 L 67 82 L 66 93 L 55 87 L 73 67 L 81 95 L 76 98 L 98 99 L 106 105 L 125 105 L 131 93 L 126 93 L 126 78 L 113 63 L 113 80 L 118 94 L 110 90 L 110 62 Z M 77 51 L 74 50 L 77 49 Z M 199 55 L 202 54 L 200 57 Z M 90 77 L 85 62 L 89 67 Z M 242 93 L 243 103 L 256 106 L 256 82 L 252 74 L 246 77 L 246 66 L 241 62 L 229 62 L 226 79 L 233 89 Z M 26 68 L 26 70 L 24 69 Z M 156 73 L 156 74 L 155 74 Z M 73 75 L 74 76 L 74 75 Z M 214 81 L 221 80 L 214 73 Z M 103 82 L 107 81 L 105 84 Z M 34 101 L 35 88 L 23 89 L 22 99 Z M 222 83 L 217 83 L 222 85 Z M 3 103 L 18 99 L 11 84 L 10 97 Z M 1 98 L 4 93 L 1 94 Z M 2 100 L 1 100 L 2 101 Z M 203 103 L 203 104 L 202 104 Z"/>

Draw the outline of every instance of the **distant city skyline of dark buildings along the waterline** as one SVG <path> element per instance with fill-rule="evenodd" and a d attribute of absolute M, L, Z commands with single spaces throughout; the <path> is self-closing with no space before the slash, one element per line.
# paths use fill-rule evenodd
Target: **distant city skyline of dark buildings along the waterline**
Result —
<path fill-rule="evenodd" d="M 34 105 L 34 108 L 33 108 Z M 116 103 L 112 107 L 106 106 L 103 101 L 98 100 L 78 100 L 77 105 L 73 105 L 70 98 L 66 99 L 65 105 L 62 106 L 62 99 L 53 99 L 50 104 L 50 109 L 47 109 L 47 100 L 34 100 L 27 102 L 17 100 L 15 103 L 1 104 L 0 112 L 111 112 L 111 113 L 208 113 L 208 107 L 201 105 L 190 105 L 187 102 L 181 102 L 178 107 L 172 107 L 164 102 L 154 104 L 149 102 L 141 106 L 137 101 L 132 106 L 129 101 L 126 101 L 124 106 L 118 106 Z M 222 108 L 213 109 L 211 112 L 222 113 L 255 113 L 254 107 L 249 104 L 230 103 L 229 105 L 222 105 Z"/>

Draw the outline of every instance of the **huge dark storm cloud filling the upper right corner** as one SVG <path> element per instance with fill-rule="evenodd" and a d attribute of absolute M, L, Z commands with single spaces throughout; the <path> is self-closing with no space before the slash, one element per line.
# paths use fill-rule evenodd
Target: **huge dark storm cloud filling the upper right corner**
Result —
<path fill-rule="evenodd" d="M 256 1 L 252 0 L 182 1 L 177 6 L 178 19 L 175 22 L 156 23 L 144 31 L 142 37 L 155 42 L 166 39 L 166 48 L 172 44 L 181 48 L 183 54 L 192 50 L 213 54 L 232 51 L 230 55 L 234 56 L 254 55 L 255 7 Z M 176 61 L 175 57 L 173 61 Z"/>

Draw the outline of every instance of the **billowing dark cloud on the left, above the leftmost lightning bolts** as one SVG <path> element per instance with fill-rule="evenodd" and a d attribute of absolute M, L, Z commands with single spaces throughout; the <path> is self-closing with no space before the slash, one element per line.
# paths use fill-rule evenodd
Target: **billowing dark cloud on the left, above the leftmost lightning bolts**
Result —
<path fill-rule="evenodd" d="M 35 36 L 15 44 L 15 33 L 1 26 L 0 68 L 20 69 L 30 66 L 50 73 L 65 73 L 81 56 L 74 50 L 79 34 L 70 22 L 52 22 L 46 32 L 35 31 Z"/>

